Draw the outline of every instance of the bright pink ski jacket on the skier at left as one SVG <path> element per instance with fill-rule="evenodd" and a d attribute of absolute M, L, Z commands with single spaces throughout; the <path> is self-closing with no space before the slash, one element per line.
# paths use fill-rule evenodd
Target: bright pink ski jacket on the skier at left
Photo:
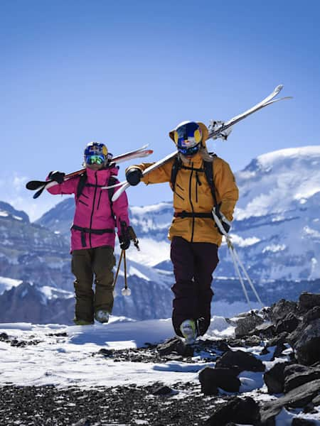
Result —
<path fill-rule="evenodd" d="M 48 188 L 50 194 L 75 194 L 75 216 L 71 226 L 71 253 L 73 250 L 92 249 L 100 246 L 114 247 L 115 226 L 121 234 L 121 222 L 129 226 L 128 200 L 124 192 L 110 205 L 107 186 L 110 178 L 118 174 L 117 168 L 86 169 L 87 180 L 80 197 L 77 196 L 80 176 Z M 112 180 L 112 185 L 118 182 Z M 117 188 L 115 188 L 115 191 Z"/>

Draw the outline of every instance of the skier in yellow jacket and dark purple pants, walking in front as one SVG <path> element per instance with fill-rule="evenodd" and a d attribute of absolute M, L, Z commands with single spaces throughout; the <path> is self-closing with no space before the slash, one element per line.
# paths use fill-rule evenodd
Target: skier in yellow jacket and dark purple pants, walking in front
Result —
<path fill-rule="evenodd" d="M 218 265 L 222 241 L 211 212 L 215 207 L 228 232 L 238 187 L 228 163 L 208 153 L 208 129 L 203 123 L 184 121 L 169 136 L 176 143 L 178 160 L 172 158 L 145 176 L 142 171 L 152 163 L 132 165 L 126 170 L 126 178 L 130 185 L 137 185 L 140 180 L 146 185 L 169 182 L 174 191 L 174 219 L 169 229 L 176 279 L 172 287 L 172 322 L 176 334 L 193 343 L 210 325 L 212 274 Z M 205 173 L 208 163 L 212 167 L 214 192 Z"/>

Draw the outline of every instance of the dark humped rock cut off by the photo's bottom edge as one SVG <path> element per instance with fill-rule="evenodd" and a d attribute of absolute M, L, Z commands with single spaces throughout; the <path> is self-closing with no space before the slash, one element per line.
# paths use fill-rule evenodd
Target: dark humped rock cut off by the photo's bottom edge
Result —
<path fill-rule="evenodd" d="M 257 425 L 259 420 L 259 405 L 253 398 L 235 397 L 227 403 L 219 405 L 205 425 L 225 426 L 228 422 L 235 422 L 240 425 Z"/>

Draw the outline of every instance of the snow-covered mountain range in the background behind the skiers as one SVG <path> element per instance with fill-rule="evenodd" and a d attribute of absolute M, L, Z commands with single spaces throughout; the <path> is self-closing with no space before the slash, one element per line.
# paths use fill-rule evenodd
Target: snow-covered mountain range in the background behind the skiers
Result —
<path fill-rule="evenodd" d="M 294 299 L 303 290 L 320 288 L 319 165 L 320 146 L 309 146 L 260 155 L 235 174 L 240 200 L 231 236 L 267 305 L 280 297 Z M 134 200 L 134 188 L 128 195 Z M 9 204 L 1 203 L 0 209 L 2 291 L 10 287 L 8 278 L 31 280 L 35 291 L 43 285 L 72 291 L 68 252 L 73 198 L 60 202 L 34 224 Z M 174 277 L 167 232 L 172 214 L 171 202 L 130 208 L 141 251 L 134 247 L 127 251 L 132 296 L 121 295 L 124 280 L 120 273 L 116 315 L 139 320 L 171 315 Z M 119 255 L 119 247 L 116 253 Z M 220 248 L 213 288 L 213 312 L 219 312 L 223 302 L 235 304 L 237 309 L 239 301 L 245 302 L 225 244 Z M 18 295 L 18 290 L 14 292 Z M 4 302 L 1 295 L 0 302 Z"/>

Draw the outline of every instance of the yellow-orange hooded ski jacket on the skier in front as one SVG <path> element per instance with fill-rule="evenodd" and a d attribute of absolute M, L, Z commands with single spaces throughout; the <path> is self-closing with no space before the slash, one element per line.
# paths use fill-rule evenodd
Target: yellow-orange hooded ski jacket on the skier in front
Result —
<path fill-rule="evenodd" d="M 208 134 L 208 129 L 202 124 L 203 131 Z M 201 126 L 201 127 L 202 127 Z M 171 136 L 171 133 L 169 133 Z M 206 138 L 204 139 L 206 140 Z M 132 165 L 130 168 L 144 170 L 154 163 L 142 163 Z M 164 165 L 148 173 L 142 181 L 149 185 L 151 183 L 161 183 L 171 181 L 171 170 L 174 159 L 169 160 Z M 230 166 L 222 158 L 213 158 L 213 180 L 215 183 L 215 195 L 220 212 L 231 221 L 233 220 L 233 210 L 238 200 L 238 187 L 235 177 L 230 170 Z M 193 155 L 188 163 L 183 163 L 187 168 L 180 168 L 176 175 L 176 185 L 174 190 L 174 214 L 180 212 L 188 213 L 210 213 L 213 209 L 213 196 L 208 185 L 208 181 L 203 169 L 203 158 L 201 153 Z M 200 170 L 197 170 L 200 169 Z M 202 170 L 202 171 L 201 171 Z M 168 238 L 181 236 L 189 242 L 207 242 L 220 246 L 222 236 L 219 234 L 213 219 L 206 217 L 174 217 L 169 228 Z"/>

